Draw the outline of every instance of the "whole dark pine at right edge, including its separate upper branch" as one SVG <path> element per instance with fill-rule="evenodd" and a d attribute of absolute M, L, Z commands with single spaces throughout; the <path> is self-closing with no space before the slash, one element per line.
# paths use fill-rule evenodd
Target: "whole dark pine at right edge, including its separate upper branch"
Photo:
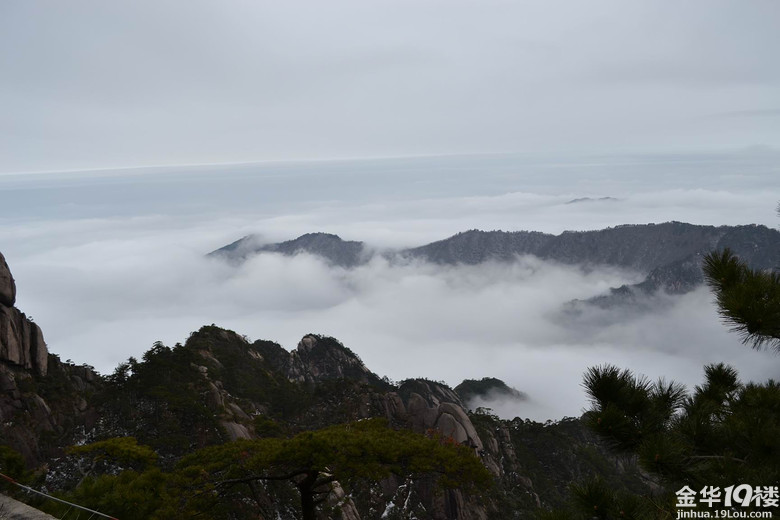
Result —
<path fill-rule="evenodd" d="M 703 271 L 718 312 L 743 343 L 780 352 L 780 273 L 751 269 L 728 249 L 708 254 Z M 567 510 L 541 516 L 672 517 L 671 492 L 684 485 L 780 482 L 780 383 L 743 384 L 722 363 L 704 373 L 704 384 L 687 394 L 676 383 L 651 382 L 612 365 L 590 368 L 585 422 L 616 450 L 636 456 L 666 495 L 636 502 L 601 482 L 580 483 L 572 486 Z"/>

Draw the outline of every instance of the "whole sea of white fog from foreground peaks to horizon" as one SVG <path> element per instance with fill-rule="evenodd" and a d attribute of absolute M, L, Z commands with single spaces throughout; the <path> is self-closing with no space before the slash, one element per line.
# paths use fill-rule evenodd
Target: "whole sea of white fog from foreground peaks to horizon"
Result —
<path fill-rule="evenodd" d="M 613 267 L 376 255 L 345 269 L 312 255 L 234 265 L 206 254 L 252 233 L 269 243 L 335 233 L 381 252 L 469 229 L 777 227 L 778 157 L 771 149 L 514 154 L 7 174 L 0 244 L 17 304 L 50 351 L 101 373 L 205 324 L 287 349 L 313 332 L 393 380 L 500 378 L 529 399 L 486 405 L 505 417 L 555 419 L 581 413 L 581 376 L 594 364 L 690 387 L 705 363 L 762 380 L 776 377 L 780 357 L 740 345 L 704 287 L 657 295 L 641 312 L 563 312 L 646 274 Z"/>

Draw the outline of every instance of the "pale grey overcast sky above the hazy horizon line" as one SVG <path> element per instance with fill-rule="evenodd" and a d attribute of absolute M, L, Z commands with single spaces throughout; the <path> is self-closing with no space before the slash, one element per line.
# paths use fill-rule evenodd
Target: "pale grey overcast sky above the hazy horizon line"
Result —
<path fill-rule="evenodd" d="M 773 0 L 6 0 L 0 172 L 780 146 L 779 23 Z"/>

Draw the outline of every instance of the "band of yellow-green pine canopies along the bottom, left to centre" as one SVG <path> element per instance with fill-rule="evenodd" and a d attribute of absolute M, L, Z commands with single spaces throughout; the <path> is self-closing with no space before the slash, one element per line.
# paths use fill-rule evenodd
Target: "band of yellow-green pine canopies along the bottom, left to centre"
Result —
<path fill-rule="evenodd" d="M 134 439 L 109 439 L 71 452 L 96 461 L 107 453 L 122 469 L 86 477 L 67 497 L 111 511 L 122 520 L 156 520 L 206 515 L 212 519 L 267 515 L 268 485 L 289 482 L 299 494 L 295 514 L 329 516 L 349 499 L 333 495 L 341 486 L 366 485 L 391 475 L 432 479 L 443 487 L 484 490 L 493 482 L 474 450 L 440 436 L 393 430 L 370 419 L 307 431 L 291 438 L 238 440 L 203 448 L 163 471 Z M 143 462 L 147 469 L 127 469 Z M 283 488 L 276 486 L 276 492 Z M 289 492 L 289 490 L 288 490 Z M 60 505 L 48 509 L 65 512 Z M 330 513 L 328 513 L 330 512 Z"/>

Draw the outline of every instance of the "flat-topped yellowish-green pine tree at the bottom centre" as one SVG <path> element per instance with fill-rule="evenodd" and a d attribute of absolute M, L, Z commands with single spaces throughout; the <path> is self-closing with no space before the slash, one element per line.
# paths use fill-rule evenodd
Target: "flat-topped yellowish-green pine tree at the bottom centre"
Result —
<path fill-rule="evenodd" d="M 429 477 L 444 488 L 467 490 L 482 490 L 492 483 L 472 449 L 451 439 L 394 430 L 381 419 L 307 431 L 289 439 L 243 440 L 204 448 L 184 457 L 177 474 L 185 483 L 178 508 L 213 511 L 219 502 L 230 504 L 235 512 L 239 504 L 258 500 L 260 484 L 283 481 L 297 489 L 303 520 L 317 517 L 336 481 L 365 484 L 391 475 Z"/>

